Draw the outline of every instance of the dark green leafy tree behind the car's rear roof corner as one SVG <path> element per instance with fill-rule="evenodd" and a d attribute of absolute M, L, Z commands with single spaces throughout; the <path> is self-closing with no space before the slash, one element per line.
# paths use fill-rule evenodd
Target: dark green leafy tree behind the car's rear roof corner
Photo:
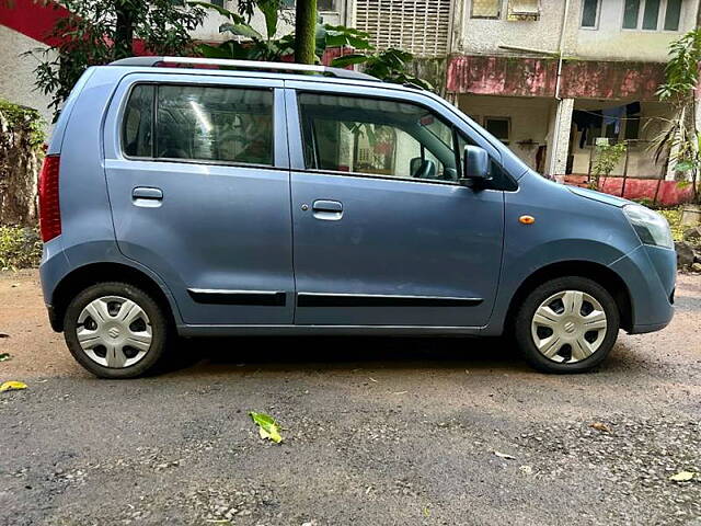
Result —
<path fill-rule="evenodd" d="M 173 0 L 61 0 L 60 4 L 71 15 L 60 19 L 49 35 L 59 44 L 30 52 L 39 60 L 36 85 L 51 95 L 54 118 L 87 68 L 133 56 L 137 41 L 140 50 L 154 55 L 191 54 L 189 32 L 205 16 L 202 7 Z"/>

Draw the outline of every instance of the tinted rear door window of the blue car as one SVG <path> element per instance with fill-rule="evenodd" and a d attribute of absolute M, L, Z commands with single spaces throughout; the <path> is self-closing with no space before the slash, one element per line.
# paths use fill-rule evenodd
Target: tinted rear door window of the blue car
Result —
<path fill-rule="evenodd" d="M 125 112 L 123 137 L 125 153 L 131 157 L 272 165 L 273 91 L 137 85 Z"/>

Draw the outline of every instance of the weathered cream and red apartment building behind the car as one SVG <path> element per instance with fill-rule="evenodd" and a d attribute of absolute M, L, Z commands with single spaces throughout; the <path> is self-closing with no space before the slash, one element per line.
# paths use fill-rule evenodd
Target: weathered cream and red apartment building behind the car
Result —
<path fill-rule="evenodd" d="M 627 140 L 614 174 L 658 179 L 650 140 L 669 116 L 655 90 L 669 43 L 697 24 L 700 0 L 319 0 L 324 22 L 352 25 L 380 48 L 407 49 L 438 89 L 507 144 L 525 162 L 555 176 L 587 174 L 598 138 Z M 212 3 L 235 9 L 234 0 Z M 294 30 L 294 0 L 280 33 Z M 48 10 L 33 0 L 0 0 L 0 96 L 44 110 L 32 90 L 31 58 L 45 46 Z M 212 12 L 195 33 L 217 42 Z M 253 24 L 264 31 L 256 15 Z"/>

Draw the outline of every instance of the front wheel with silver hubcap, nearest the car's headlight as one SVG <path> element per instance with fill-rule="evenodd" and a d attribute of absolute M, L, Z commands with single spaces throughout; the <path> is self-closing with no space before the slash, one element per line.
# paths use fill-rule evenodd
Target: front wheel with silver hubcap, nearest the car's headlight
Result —
<path fill-rule="evenodd" d="M 518 309 L 514 335 L 526 361 L 543 373 L 585 373 L 618 338 L 616 300 L 598 283 L 559 277 L 533 289 Z"/>

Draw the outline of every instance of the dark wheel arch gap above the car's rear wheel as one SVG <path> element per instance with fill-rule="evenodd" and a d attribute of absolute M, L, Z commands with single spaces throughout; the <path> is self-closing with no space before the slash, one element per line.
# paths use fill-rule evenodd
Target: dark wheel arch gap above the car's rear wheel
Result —
<path fill-rule="evenodd" d="M 105 282 L 122 282 L 134 285 L 147 293 L 157 301 L 165 316 L 175 327 L 174 312 L 175 305 L 151 276 L 145 272 L 122 263 L 91 263 L 73 270 L 67 274 L 57 285 L 51 295 L 51 328 L 56 332 L 64 330 L 64 316 L 71 300 L 91 285 Z"/>

